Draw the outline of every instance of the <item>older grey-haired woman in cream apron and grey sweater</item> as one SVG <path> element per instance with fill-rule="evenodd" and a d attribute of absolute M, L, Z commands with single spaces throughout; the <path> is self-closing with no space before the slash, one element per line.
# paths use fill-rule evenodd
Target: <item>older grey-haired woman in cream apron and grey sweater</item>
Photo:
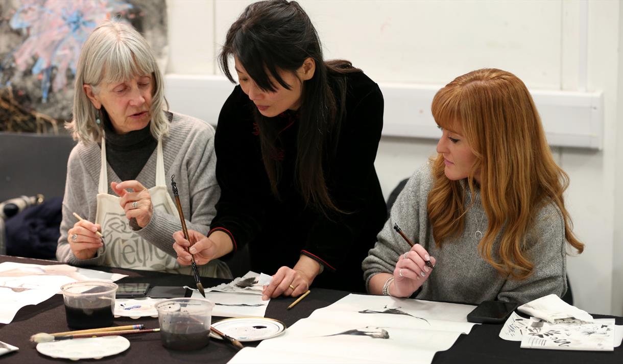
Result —
<path fill-rule="evenodd" d="M 165 105 L 145 39 L 120 22 L 98 26 L 80 53 L 67 124 L 79 142 L 67 164 L 59 261 L 191 273 L 172 246 L 181 223 L 168 177 L 175 175 L 186 225 L 206 234 L 220 196 L 214 128 Z M 218 260 L 199 273 L 231 277 Z"/>

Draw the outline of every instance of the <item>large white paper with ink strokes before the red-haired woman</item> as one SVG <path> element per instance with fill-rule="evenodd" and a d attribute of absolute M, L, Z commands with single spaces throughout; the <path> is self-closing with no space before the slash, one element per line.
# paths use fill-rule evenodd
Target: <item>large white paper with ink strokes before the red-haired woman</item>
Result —
<path fill-rule="evenodd" d="M 436 352 L 470 332 L 472 310 L 472 305 L 350 294 L 230 363 L 430 363 Z M 303 358 L 308 353 L 321 356 Z"/>

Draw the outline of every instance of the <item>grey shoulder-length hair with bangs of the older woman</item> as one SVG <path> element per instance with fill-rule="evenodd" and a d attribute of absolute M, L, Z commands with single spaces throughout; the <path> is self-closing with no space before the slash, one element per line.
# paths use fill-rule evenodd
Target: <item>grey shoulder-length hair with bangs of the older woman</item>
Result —
<path fill-rule="evenodd" d="M 95 123 L 93 106 L 83 85 L 98 93 L 100 83 L 123 82 L 139 75 L 151 74 L 154 93 L 151 102 L 151 135 L 158 140 L 169 133 L 169 120 L 164 113 L 169 105 L 164 98 L 163 76 L 150 45 L 133 27 L 121 22 L 105 21 L 88 36 L 76 67 L 74 118 L 65 125 L 75 140 L 83 143 L 102 140 L 102 126 Z M 164 106 L 166 105 L 166 109 Z"/>

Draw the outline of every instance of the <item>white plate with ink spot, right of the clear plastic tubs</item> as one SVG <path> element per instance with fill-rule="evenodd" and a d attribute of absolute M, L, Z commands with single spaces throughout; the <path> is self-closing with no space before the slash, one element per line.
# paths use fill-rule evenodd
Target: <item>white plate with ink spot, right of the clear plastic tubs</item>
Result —
<path fill-rule="evenodd" d="M 285 330 L 283 322 L 265 317 L 235 317 L 212 323 L 212 327 L 239 342 L 253 342 L 280 335 Z M 210 332 L 213 338 L 221 338 Z"/>

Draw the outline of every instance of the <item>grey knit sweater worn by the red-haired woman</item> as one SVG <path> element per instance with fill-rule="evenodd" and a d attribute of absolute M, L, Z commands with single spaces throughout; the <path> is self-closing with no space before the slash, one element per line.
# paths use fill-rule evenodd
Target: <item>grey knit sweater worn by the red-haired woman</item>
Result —
<path fill-rule="evenodd" d="M 429 279 L 417 291 L 417 299 L 473 304 L 483 300 L 502 300 L 524 304 L 548 294 L 562 297 L 567 290 L 564 220 L 556 206 L 548 204 L 542 208 L 526 236 L 527 254 L 534 264 L 533 273 L 525 280 L 513 280 L 500 275 L 478 252 L 475 232 L 487 230 L 487 216 L 479 191 L 475 203 L 465 215 L 462 234 L 449 239 L 440 248 L 435 246 L 426 208 L 432 186 L 433 178 L 427 164 L 411 176 L 399 194 L 391 216 L 377 236 L 378 242 L 362 264 L 368 290 L 374 274 L 392 274 L 399 256 L 410 249 L 392 228 L 397 223 L 409 239 L 424 246 L 430 256 L 437 259 Z M 465 206 L 468 206 L 471 203 L 468 188 L 466 195 Z M 494 248 L 497 244 L 499 236 Z"/>

